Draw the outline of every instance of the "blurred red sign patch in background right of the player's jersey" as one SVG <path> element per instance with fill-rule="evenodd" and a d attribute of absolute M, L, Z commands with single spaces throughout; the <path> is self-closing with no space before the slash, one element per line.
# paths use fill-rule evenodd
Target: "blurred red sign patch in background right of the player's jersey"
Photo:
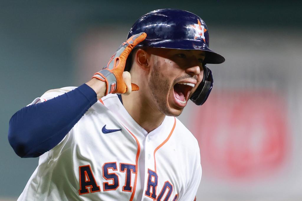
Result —
<path fill-rule="evenodd" d="M 211 94 L 191 131 L 198 139 L 204 176 L 253 180 L 286 161 L 290 132 L 284 99 L 270 91 Z"/>

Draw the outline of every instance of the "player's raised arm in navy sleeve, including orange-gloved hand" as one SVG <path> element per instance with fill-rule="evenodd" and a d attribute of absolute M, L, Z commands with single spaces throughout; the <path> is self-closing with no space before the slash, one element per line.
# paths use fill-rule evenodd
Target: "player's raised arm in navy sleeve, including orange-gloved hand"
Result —
<path fill-rule="evenodd" d="M 133 47 L 145 38 L 145 33 L 129 38 L 111 57 L 108 65 L 87 83 L 16 112 L 8 129 L 8 141 L 16 154 L 22 158 L 42 155 L 61 142 L 99 98 L 109 93 L 130 94 L 138 90 L 124 68 Z"/>

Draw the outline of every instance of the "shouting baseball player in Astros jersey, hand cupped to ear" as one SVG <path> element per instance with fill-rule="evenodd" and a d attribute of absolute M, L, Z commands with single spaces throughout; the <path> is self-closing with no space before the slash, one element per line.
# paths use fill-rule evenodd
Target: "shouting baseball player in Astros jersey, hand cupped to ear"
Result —
<path fill-rule="evenodd" d="M 222 62 L 197 15 L 142 16 L 90 81 L 49 90 L 11 117 L 16 154 L 40 157 L 18 200 L 196 199 L 198 142 L 175 116 L 189 99 L 206 101 L 206 64 Z"/>

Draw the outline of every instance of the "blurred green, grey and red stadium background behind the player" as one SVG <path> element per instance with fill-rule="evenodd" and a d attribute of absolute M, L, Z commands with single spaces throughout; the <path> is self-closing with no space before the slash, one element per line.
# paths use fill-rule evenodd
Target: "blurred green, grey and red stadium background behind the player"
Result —
<path fill-rule="evenodd" d="M 226 58 L 208 65 L 208 101 L 179 116 L 200 145 L 197 200 L 302 200 L 302 3 L 290 0 L 0 1 L 0 200 L 16 200 L 38 164 L 10 147 L 11 116 L 49 89 L 88 81 L 160 8 L 199 15 Z"/>

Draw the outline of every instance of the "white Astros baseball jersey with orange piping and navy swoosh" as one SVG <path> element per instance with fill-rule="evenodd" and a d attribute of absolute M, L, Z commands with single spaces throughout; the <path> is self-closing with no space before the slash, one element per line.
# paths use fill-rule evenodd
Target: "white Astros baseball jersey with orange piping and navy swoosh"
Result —
<path fill-rule="evenodd" d="M 31 104 L 74 88 L 47 91 Z M 193 201 L 200 180 L 198 142 L 177 118 L 165 116 L 147 133 L 108 94 L 40 156 L 18 200 Z"/>

